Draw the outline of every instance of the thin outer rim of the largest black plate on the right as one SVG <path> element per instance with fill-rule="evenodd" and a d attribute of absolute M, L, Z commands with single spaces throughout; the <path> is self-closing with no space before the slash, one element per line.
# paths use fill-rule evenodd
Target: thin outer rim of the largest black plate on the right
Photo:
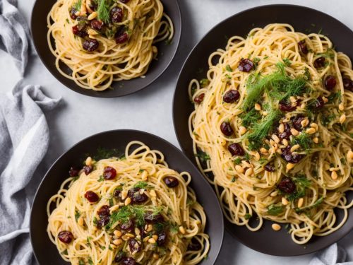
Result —
<path fill-rule="evenodd" d="M 174 133 L 175 135 L 177 136 L 177 141 L 179 143 L 179 146 L 181 148 L 181 150 L 183 151 L 183 153 L 186 155 L 186 157 L 189 158 L 189 155 L 187 155 L 187 152 L 186 152 L 186 149 L 184 148 L 184 144 L 183 144 L 183 141 L 182 139 L 180 138 L 179 134 L 178 134 L 178 131 L 177 131 L 177 122 L 176 122 L 176 116 L 177 116 L 177 104 L 176 104 L 176 98 L 177 98 L 177 91 L 178 91 L 178 87 L 180 86 L 180 78 L 181 78 L 181 75 L 183 74 L 184 72 L 184 69 L 185 69 L 185 66 L 186 64 L 189 62 L 191 56 L 193 55 L 193 52 L 195 52 L 196 48 L 201 45 L 201 42 L 203 42 L 203 40 L 205 39 L 205 37 L 207 37 L 211 32 L 213 32 L 213 30 L 215 30 L 217 27 L 219 27 L 220 25 L 222 25 L 223 23 L 227 23 L 229 20 L 232 20 L 234 17 L 236 16 L 239 16 L 241 15 L 242 13 L 246 13 L 246 12 L 249 12 L 249 11 L 253 11 L 255 9 L 261 9 L 261 8 L 275 8 L 275 7 L 292 7 L 292 8 L 304 8 L 306 10 L 309 10 L 309 11 L 315 11 L 315 12 L 318 12 L 318 13 L 321 13 L 322 15 L 324 16 L 328 16 L 330 18 L 332 18 L 333 20 L 336 20 L 337 23 L 340 23 L 341 26 L 347 28 L 353 35 L 353 30 L 351 28 L 349 28 L 347 25 L 345 25 L 344 23 L 342 23 L 340 20 L 338 20 L 337 18 L 331 16 L 330 14 L 328 13 L 325 13 L 323 11 L 320 11 L 320 10 L 317 10 L 315 8 L 311 8 L 309 6 L 302 6 L 302 5 L 298 5 L 298 4 L 264 4 L 264 5 L 261 5 L 261 6 L 253 6 L 251 8 L 246 8 L 242 11 L 239 11 L 237 13 L 234 13 L 233 15 L 231 16 L 228 16 L 227 18 L 221 20 L 219 23 L 216 23 L 212 28 L 210 28 L 210 30 L 207 30 L 207 32 L 201 37 L 200 40 L 198 40 L 198 42 L 196 42 L 196 45 L 193 46 L 193 48 L 191 49 L 191 51 L 189 52 L 189 54 L 187 55 L 186 59 L 184 60 L 184 63 L 182 64 L 181 66 L 181 69 L 179 71 L 179 74 L 178 74 L 178 77 L 177 77 L 177 83 L 175 85 L 175 89 L 174 89 L 174 95 L 173 95 L 173 103 L 172 103 L 172 118 L 173 118 L 173 126 L 174 126 Z M 352 62 L 353 62 L 353 58 L 352 58 Z M 189 158 L 189 160 L 191 160 L 191 162 L 195 165 L 194 161 Z M 197 167 L 198 168 L 198 167 Z M 199 169 L 198 169 L 199 170 Z M 200 170 L 199 170 L 200 171 Z M 212 186 L 212 185 L 211 185 Z M 213 186 L 212 186 L 213 187 Z M 214 188 L 213 188 L 214 189 Z M 267 219 L 265 219 L 267 220 Z M 342 238 L 346 237 L 349 232 L 352 232 L 353 231 L 353 225 L 349 228 L 349 231 L 345 234 L 345 235 L 342 235 L 341 237 L 339 237 L 337 240 L 335 240 L 335 242 L 332 242 L 330 243 L 329 245 L 325 246 L 325 247 L 319 247 L 318 249 L 311 249 L 311 250 L 306 250 L 304 248 L 304 250 L 301 252 L 301 253 L 297 253 L 297 254 L 292 254 L 292 255 L 286 255 L 286 254 L 273 254 L 273 253 L 270 253 L 268 251 L 265 251 L 263 249 L 258 249 L 256 247 L 253 247 L 251 246 L 250 244 L 244 242 L 244 240 L 241 239 L 241 237 L 239 237 L 238 235 L 236 235 L 234 232 L 232 232 L 231 228 L 233 225 L 233 223 L 230 223 L 227 218 L 224 218 L 224 221 L 225 221 L 225 230 L 227 230 L 227 232 L 234 238 L 236 239 L 238 242 L 240 242 L 242 245 L 246 246 L 246 247 L 249 247 L 250 249 L 253 249 L 254 251 L 256 252 L 260 252 L 260 253 L 263 253 L 263 254 L 268 254 L 270 256 L 275 256 L 275 257 L 298 257 L 298 256 L 302 256 L 302 255 L 305 255 L 305 254 L 312 254 L 312 253 L 315 253 L 315 252 L 318 252 L 320 251 L 321 249 L 324 249 L 325 247 L 329 247 L 330 244 L 334 244 L 334 243 L 337 243 L 339 240 L 342 240 Z M 240 226 L 240 225 L 239 225 Z M 249 230 L 249 232 L 251 232 L 251 230 Z M 256 231 L 255 231 L 256 232 Z M 303 245 L 304 246 L 304 245 Z"/>

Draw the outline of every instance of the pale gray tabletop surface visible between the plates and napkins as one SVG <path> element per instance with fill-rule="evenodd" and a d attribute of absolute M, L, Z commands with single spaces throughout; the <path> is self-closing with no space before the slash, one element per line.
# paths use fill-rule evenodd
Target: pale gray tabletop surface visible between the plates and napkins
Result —
<path fill-rule="evenodd" d="M 34 0 L 19 0 L 20 10 L 30 21 Z M 109 129 L 139 129 L 161 136 L 179 147 L 172 124 L 172 99 L 177 73 L 196 42 L 221 20 L 239 11 L 263 4 L 300 4 L 316 8 L 341 20 L 353 29 L 352 0 L 179 0 L 184 27 L 192 34 L 181 36 L 181 45 L 169 69 L 149 88 L 124 98 L 89 98 L 65 88 L 32 56 L 25 83 L 39 84 L 52 98 L 63 98 L 61 107 L 47 117 L 51 142 L 44 161 L 32 182 L 35 187 L 56 158 L 74 143 L 91 134 Z M 45 34 L 45 33 L 43 33 Z M 11 57 L 0 52 L 0 92 L 11 90 L 20 79 Z M 28 192 L 33 192 L 33 189 Z M 340 241 L 353 259 L 353 232 Z M 308 264 L 312 254 L 301 257 L 273 257 L 241 245 L 227 232 L 217 265 L 221 264 Z"/>

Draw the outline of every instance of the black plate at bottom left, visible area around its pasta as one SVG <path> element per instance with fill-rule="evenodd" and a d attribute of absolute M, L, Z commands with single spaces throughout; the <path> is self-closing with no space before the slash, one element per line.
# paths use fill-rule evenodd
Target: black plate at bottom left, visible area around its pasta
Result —
<path fill-rule="evenodd" d="M 208 259 L 204 259 L 201 264 L 215 264 L 222 246 L 224 226 L 222 210 L 212 188 L 191 161 L 171 143 L 152 134 L 134 130 L 105 131 L 90 136 L 70 148 L 50 167 L 37 189 L 30 216 L 30 237 L 39 264 L 68 264 L 61 259 L 56 246 L 49 240 L 46 209 L 49 198 L 56 194 L 61 183 L 68 177 L 68 168 L 72 165 L 80 165 L 85 154 L 94 154 L 98 148 L 117 148 L 124 153 L 126 144 L 135 140 L 142 141 L 152 149 L 162 151 L 167 163 L 174 170 L 187 171 L 191 174 L 191 187 L 195 190 L 198 201 L 205 208 L 208 218 L 205 232 L 210 235 Z"/>

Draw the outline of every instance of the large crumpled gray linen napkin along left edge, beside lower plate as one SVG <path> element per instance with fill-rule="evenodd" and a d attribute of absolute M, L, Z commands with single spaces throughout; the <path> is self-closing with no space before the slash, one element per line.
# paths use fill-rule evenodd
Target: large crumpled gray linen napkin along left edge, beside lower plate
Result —
<path fill-rule="evenodd" d="M 25 187 L 47 152 L 49 129 L 44 114 L 58 102 L 39 86 L 22 82 L 0 95 L 0 264 L 32 263 L 31 201 Z"/>

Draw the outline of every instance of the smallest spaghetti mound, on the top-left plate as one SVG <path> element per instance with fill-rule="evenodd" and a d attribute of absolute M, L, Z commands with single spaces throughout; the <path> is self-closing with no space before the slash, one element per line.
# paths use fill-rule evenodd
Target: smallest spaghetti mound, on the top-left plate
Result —
<path fill-rule="evenodd" d="M 173 36 L 160 0 L 58 0 L 47 24 L 58 71 L 82 88 L 100 91 L 113 81 L 143 77 L 157 56 L 154 43 Z"/>

